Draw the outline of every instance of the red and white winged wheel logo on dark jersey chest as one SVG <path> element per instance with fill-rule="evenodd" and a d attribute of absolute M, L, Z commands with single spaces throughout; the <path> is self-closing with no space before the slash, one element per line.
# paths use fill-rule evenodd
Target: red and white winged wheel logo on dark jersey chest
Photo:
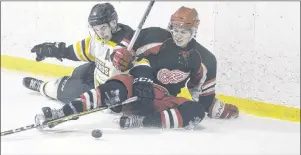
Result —
<path fill-rule="evenodd" d="M 190 72 L 185 73 L 180 70 L 168 70 L 166 68 L 159 70 L 157 79 L 163 84 L 175 84 L 184 81 Z"/>

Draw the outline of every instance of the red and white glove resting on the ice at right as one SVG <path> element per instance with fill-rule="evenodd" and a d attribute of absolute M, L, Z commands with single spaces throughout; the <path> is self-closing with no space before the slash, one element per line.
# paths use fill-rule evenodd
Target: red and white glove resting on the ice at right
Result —
<path fill-rule="evenodd" d="M 238 115 L 239 111 L 235 105 L 225 104 L 218 99 L 214 99 L 208 113 L 209 117 L 217 119 L 237 118 Z"/>

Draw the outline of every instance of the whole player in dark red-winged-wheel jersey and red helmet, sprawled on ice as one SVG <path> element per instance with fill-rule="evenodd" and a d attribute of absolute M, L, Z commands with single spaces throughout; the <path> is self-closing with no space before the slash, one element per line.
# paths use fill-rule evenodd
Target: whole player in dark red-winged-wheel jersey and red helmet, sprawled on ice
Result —
<path fill-rule="evenodd" d="M 144 29 L 134 46 L 138 59 L 134 67 L 130 68 L 129 75 L 113 76 L 103 85 L 85 92 L 59 110 L 44 107 L 43 114 L 36 116 L 36 123 L 102 106 L 119 105 L 132 96 L 137 96 L 138 100 L 115 110 L 125 113 L 119 122 L 122 128 L 190 128 L 202 121 L 205 111 L 215 118 L 219 112 L 219 118 L 237 117 L 236 107 L 229 105 L 222 109 L 216 108 L 219 105 L 214 102 L 214 96 L 211 100 L 203 98 L 214 95 L 214 92 L 207 90 L 208 96 L 201 93 L 208 76 L 204 72 L 206 68 L 202 54 L 209 51 L 193 38 L 198 25 L 196 10 L 181 7 L 171 17 L 171 33 L 160 28 Z M 116 60 L 129 53 L 126 48 L 116 51 L 120 53 L 113 55 Z M 118 68 L 120 64 L 125 66 L 122 62 L 114 65 Z M 215 75 L 210 78 L 207 83 Z M 214 85 L 210 84 L 207 88 Z M 189 88 L 200 90 L 198 99 L 194 100 Z"/>

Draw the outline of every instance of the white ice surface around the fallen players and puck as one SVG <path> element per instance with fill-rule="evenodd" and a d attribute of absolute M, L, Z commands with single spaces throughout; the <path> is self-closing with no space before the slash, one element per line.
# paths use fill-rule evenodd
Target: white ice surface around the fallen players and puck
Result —
<path fill-rule="evenodd" d="M 24 76 L 33 75 L 1 69 L 1 131 L 32 124 L 43 106 L 62 106 L 23 87 Z M 43 133 L 3 136 L 1 154 L 300 154 L 300 123 L 242 114 L 235 120 L 206 118 L 193 131 L 120 130 L 117 117 L 98 112 Z M 91 136 L 95 128 L 102 138 Z"/>

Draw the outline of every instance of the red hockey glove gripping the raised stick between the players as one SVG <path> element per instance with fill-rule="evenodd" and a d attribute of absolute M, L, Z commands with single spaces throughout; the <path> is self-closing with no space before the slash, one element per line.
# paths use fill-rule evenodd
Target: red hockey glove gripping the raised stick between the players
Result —
<path fill-rule="evenodd" d="M 114 67 L 122 72 L 133 67 L 134 57 L 126 48 L 115 49 L 110 57 Z"/>

